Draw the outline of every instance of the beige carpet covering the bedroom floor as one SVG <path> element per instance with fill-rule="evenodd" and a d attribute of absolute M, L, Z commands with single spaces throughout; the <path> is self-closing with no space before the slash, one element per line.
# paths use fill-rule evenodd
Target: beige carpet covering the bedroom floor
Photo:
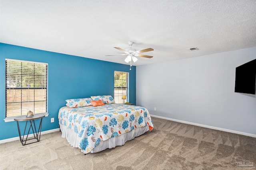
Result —
<path fill-rule="evenodd" d="M 155 129 L 124 146 L 84 155 L 61 132 L 0 144 L 1 170 L 256 170 L 256 138 L 152 117 Z M 234 159 L 236 158 L 236 161 Z M 245 167 L 245 166 L 244 166 Z"/>

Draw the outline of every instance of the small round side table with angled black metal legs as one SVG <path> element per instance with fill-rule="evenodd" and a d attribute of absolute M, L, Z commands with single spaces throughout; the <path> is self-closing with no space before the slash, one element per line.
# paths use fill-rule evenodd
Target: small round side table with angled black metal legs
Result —
<path fill-rule="evenodd" d="M 31 144 L 31 143 L 27 143 L 26 144 L 26 142 L 28 140 L 32 140 L 32 139 L 36 139 L 36 141 L 32 142 L 32 143 L 36 143 L 36 142 L 40 141 L 43 117 L 45 117 L 45 115 L 43 115 L 43 114 L 35 114 L 33 117 L 26 117 L 26 115 L 22 115 L 22 116 L 18 116 L 18 117 L 14 118 L 14 120 L 17 121 L 18 131 L 19 131 L 19 135 L 20 135 L 20 142 L 22 143 L 22 145 Z M 36 131 L 36 125 L 35 125 L 35 121 L 34 121 L 36 119 L 41 119 L 40 125 L 38 127 L 38 131 Z M 19 121 L 26 121 L 26 125 L 25 125 L 23 136 L 21 136 L 21 133 L 20 133 Z M 25 135 L 25 132 L 26 132 L 26 127 L 27 127 L 28 121 L 30 121 L 30 126 L 29 126 L 29 129 L 28 129 L 28 134 L 26 136 L 26 139 L 24 140 L 24 135 Z M 33 125 L 34 125 L 34 127 L 33 127 Z M 34 138 L 32 138 L 32 139 L 28 139 L 28 135 L 29 135 L 30 129 L 32 129 L 33 135 L 34 135 Z"/>

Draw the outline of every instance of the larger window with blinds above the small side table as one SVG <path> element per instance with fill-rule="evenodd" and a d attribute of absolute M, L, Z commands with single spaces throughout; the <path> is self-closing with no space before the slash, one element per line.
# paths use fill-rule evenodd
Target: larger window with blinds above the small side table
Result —
<path fill-rule="evenodd" d="M 48 64 L 6 59 L 6 118 L 47 113 Z"/>

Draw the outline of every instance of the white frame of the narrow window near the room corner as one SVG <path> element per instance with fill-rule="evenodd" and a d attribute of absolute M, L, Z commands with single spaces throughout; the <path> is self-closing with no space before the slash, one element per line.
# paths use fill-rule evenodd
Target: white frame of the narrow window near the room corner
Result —
<path fill-rule="evenodd" d="M 125 73 L 126 74 L 126 87 L 116 87 L 116 84 L 115 84 L 115 81 L 117 80 L 117 79 L 115 79 L 116 72 L 120 72 L 120 73 Z M 116 95 L 116 93 L 115 93 L 116 89 L 121 89 L 121 88 L 126 88 L 126 90 L 125 90 L 126 92 L 125 93 L 122 92 L 122 95 L 120 95 L 120 94 Z M 124 91 L 124 90 L 122 90 L 122 91 Z M 124 95 L 126 96 L 126 100 L 125 101 L 122 100 L 122 96 L 124 96 Z M 116 99 L 116 97 L 118 97 L 118 99 Z M 129 72 L 114 71 L 114 100 L 115 100 L 115 103 L 117 103 L 117 104 L 124 104 L 124 102 L 129 102 Z"/>

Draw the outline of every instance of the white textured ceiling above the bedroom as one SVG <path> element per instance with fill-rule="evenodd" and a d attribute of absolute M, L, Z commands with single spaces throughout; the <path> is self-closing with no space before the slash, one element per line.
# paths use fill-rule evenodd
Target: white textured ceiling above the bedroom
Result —
<path fill-rule="evenodd" d="M 136 66 L 256 47 L 256 0 L 0 0 L 1 43 L 127 64 L 128 41 Z"/>

